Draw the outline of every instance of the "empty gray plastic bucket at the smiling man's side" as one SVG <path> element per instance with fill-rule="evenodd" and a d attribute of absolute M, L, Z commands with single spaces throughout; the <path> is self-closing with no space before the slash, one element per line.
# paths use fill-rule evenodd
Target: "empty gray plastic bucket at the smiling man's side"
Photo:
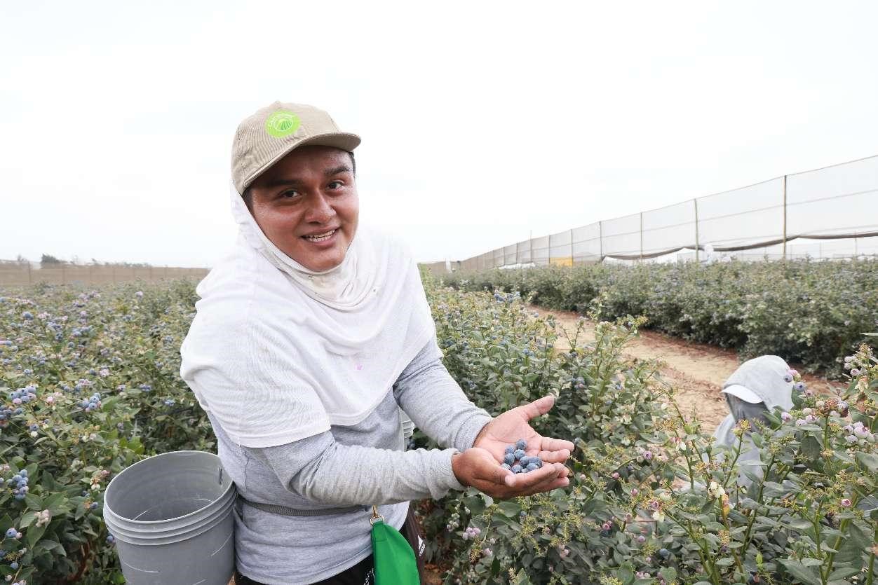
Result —
<path fill-rule="evenodd" d="M 236 496 L 213 453 L 162 453 L 126 467 L 104 493 L 104 523 L 126 582 L 227 585 Z"/>

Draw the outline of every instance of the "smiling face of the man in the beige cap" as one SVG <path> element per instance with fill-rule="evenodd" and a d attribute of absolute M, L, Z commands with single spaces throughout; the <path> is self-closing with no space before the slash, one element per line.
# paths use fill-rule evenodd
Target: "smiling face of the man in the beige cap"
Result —
<path fill-rule="evenodd" d="M 344 260 L 360 203 L 350 154 L 332 146 L 299 146 L 250 185 L 250 212 L 292 260 L 316 272 Z"/>

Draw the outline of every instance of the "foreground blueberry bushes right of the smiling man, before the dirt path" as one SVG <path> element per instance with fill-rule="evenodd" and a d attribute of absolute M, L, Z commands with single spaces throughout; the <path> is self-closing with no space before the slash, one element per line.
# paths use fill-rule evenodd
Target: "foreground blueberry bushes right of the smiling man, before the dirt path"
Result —
<path fill-rule="evenodd" d="M 422 505 L 446 582 L 874 582 L 878 364 L 867 346 L 842 360 L 844 393 L 815 396 L 791 371 L 795 409 L 742 424 L 726 448 L 678 410 L 658 364 L 623 359 L 642 318 L 608 322 L 593 305 L 594 342 L 572 332 L 574 349 L 558 352 L 552 317 L 518 293 L 430 298 L 445 363 L 474 402 L 496 414 L 551 393 L 537 431 L 578 446 L 568 489 Z M 760 474 L 738 465 L 745 440 Z"/>

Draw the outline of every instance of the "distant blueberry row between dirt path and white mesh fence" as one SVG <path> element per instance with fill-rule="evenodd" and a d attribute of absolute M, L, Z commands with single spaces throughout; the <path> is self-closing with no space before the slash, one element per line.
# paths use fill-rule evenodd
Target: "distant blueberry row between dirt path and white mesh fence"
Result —
<path fill-rule="evenodd" d="M 644 315 L 651 328 L 676 337 L 732 347 L 745 358 L 780 355 L 834 376 L 878 320 L 875 260 L 589 264 L 444 280 L 466 290 L 519 291 L 556 310 L 583 312 L 603 296 L 605 317 Z"/>

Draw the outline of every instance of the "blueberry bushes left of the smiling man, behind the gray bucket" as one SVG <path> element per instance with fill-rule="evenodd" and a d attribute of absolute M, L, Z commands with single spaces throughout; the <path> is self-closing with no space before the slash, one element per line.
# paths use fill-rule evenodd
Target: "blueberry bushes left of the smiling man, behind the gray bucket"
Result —
<path fill-rule="evenodd" d="M 0 578 L 125 582 L 109 481 L 152 454 L 215 451 L 178 375 L 194 301 L 191 282 L 0 291 Z"/>

